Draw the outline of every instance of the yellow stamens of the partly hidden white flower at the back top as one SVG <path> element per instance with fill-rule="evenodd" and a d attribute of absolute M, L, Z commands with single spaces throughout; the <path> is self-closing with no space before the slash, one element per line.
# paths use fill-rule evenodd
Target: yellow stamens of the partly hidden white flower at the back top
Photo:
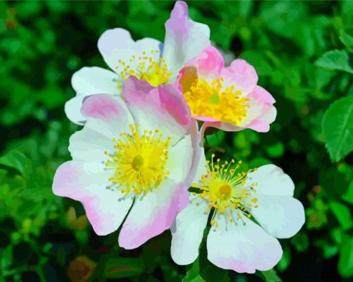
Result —
<path fill-rule="evenodd" d="M 129 76 L 135 76 L 140 80 L 146 80 L 150 85 L 157 87 L 167 83 L 172 73 L 168 72 L 167 63 L 159 57 L 159 51 L 151 51 L 148 56 L 144 51 L 141 56 L 135 55 L 129 60 L 129 63 L 118 60 L 117 72 L 120 74 L 118 79 L 118 89 L 122 89 L 123 82 Z"/>

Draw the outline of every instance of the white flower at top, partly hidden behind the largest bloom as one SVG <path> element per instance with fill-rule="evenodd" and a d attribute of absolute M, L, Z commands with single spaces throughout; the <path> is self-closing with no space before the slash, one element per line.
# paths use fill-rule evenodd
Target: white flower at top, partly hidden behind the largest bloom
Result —
<path fill-rule="evenodd" d="M 112 71 L 99 67 L 84 67 L 72 78 L 75 98 L 65 105 L 66 115 L 74 123 L 82 124 L 82 100 L 93 94 L 119 96 L 129 76 L 146 80 L 152 86 L 173 83 L 179 71 L 191 58 L 210 46 L 208 26 L 188 17 L 188 6 L 177 1 L 165 23 L 164 44 L 156 39 L 132 39 L 123 28 L 106 30 L 98 39 L 98 49 Z"/>

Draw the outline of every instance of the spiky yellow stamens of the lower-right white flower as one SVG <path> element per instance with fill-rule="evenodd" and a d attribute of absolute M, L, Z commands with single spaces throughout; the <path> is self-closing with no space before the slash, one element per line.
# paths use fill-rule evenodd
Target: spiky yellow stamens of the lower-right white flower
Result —
<path fill-rule="evenodd" d="M 235 220 L 242 220 L 245 215 L 251 218 L 251 209 L 257 208 L 257 198 L 253 197 L 255 186 L 257 183 L 248 184 L 248 173 L 255 171 L 255 169 L 247 172 L 237 173 L 242 161 L 239 161 L 235 168 L 231 168 L 235 164 L 235 160 L 230 162 L 224 161 L 220 163 L 220 159 L 213 161 L 215 155 L 212 155 L 212 160 L 207 161 L 210 168 L 206 175 L 201 175 L 201 182 L 199 184 L 193 183 L 192 186 L 199 188 L 199 197 L 208 200 L 208 209 L 214 208 L 215 212 L 212 215 L 211 224 L 217 224 L 218 215 L 226 215 L 230 222 Z M 233 217 L 233 211 L 236 211 L 237 218 Z"/>

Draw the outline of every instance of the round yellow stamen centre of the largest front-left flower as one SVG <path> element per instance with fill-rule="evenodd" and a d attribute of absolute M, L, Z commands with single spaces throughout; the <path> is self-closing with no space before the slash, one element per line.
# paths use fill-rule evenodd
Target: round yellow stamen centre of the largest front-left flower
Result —
<path fill-rule="evenodd" d="M 165 170 L 170 137 L 163 139 L 159 130 L 138 131 L 138 124 L 130 125 L 131 133 L 122 133 L 113 139 L 115 152 L 105 154 L 107 169 L 114 170 L 109 177 L 112 185 L 121 187 L 122 193 L 141 194 L 158 187 L 169 172 Z"/>

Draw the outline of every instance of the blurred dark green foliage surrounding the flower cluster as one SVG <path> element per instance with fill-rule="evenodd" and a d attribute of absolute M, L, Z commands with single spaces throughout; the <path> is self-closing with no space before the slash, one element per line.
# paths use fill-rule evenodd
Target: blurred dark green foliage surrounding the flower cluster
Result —
<path fill-rule="evenodd" d="M 106 67 L 100 34 L 122 27 L 163 41 L 172 1 L 0 2 L 0 281 L 353 281 L 353 2 L 189 1 L 230 62 L 248 60 L 277 100 L 266 134 L 206 132 L 206 151 L 296 183 L 306 223 L 281 240 L 274 270 L 220 270 L 170 258 L 170 232 L 126 251 L 99 237 L 80 203 L 51 191 L 79 127 L 64 114 L 71 76 Z"/>

